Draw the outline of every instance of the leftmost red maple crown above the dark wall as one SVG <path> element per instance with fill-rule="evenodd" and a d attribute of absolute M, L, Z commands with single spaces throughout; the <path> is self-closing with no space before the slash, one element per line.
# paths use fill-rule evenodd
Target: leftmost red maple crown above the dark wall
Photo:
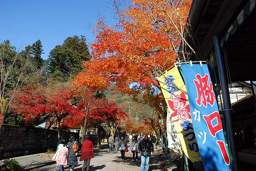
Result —
<path fill-rule="evenodd" d="M 72 106 L 73 94 L 68 88 L 44 88 L 26 86 L 17 92 L 12 108 L 24 116 L 27 122 L 36 122 L 44 115 L 49 115 L 53 122 L 60 124 L 63 118 L 74 115 L 78 109 Z"/>

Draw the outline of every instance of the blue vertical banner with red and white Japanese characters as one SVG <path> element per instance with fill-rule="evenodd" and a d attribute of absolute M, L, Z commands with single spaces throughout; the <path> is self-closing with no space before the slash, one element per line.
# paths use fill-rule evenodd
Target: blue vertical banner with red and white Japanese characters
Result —
<path fill-rule="evenodd" d="M 220 112 L 207 64 L 180 64 L 205 171 L 231 170 Z M 189 127 L 189 126 L 188 126 Z"/>

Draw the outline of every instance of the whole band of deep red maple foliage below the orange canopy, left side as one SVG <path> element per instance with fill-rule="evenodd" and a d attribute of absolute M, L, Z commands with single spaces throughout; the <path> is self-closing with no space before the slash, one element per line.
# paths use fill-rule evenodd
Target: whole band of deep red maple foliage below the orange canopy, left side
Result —
<path fill-rule="evenodd" d="M 17 92 L 12 108 L 23 115 L 27 123 L 34 124 L 45 115 L 52 123 L 69 128 L 84 125 L 88 109 L 89 126 L 103 122 L 118 124 L 126 119 L 126 113 L 109 103 L 105 98 L 95 98 L 94 92 L 85 88 L 72 86 L 42 87 L 26 86 Z"/>

